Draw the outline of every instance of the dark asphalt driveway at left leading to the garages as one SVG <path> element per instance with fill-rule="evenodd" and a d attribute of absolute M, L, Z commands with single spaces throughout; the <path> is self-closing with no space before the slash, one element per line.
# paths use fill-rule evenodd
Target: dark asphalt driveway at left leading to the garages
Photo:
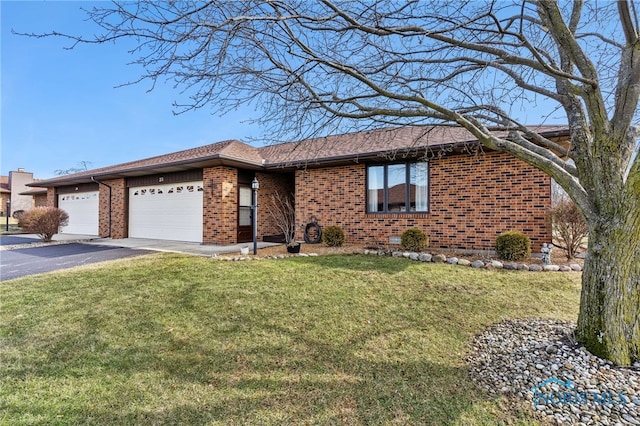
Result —
<path fill-rule="evenodd" d="M 146 253 L 151 251 L 81 243 L 3 250 L 0 251 L 0 280 Z"/>

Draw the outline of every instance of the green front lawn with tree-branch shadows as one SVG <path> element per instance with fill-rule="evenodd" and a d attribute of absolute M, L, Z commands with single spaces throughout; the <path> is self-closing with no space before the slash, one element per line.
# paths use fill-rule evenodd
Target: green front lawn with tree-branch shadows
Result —
<path fill-rule="evenodd" d="M 1 424 L 530 424 L 470 337 L 575 320 L 576 273 L 156 254 L 0 283 Z"/>

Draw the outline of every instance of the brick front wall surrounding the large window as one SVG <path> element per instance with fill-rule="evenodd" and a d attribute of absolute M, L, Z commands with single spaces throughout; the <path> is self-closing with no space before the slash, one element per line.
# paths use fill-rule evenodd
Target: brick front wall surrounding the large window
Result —
<path fill-rule="evenodd" d="M 532 250 L 551 241 L 545 212 L 551 206 L 551 180 L 508 154 L 452 155 L 429 166 L 430 212 L 367 214 L 366 165 L 296 171 L 296 223 L 312 215 L 321 226 L 338 225 L 352 243 L 388 243 L 417 227 L 434 248 L 494 250 L 495 238 L 519 230 Z"/>

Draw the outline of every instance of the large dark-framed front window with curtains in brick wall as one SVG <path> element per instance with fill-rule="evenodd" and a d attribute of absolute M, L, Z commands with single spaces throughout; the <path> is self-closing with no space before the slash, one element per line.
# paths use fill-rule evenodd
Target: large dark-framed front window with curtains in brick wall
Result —
<path fill-rule="evenodd" d="M 429 165 L 426 162 L 367 167 L 367 212 L 429 211 Z"/>

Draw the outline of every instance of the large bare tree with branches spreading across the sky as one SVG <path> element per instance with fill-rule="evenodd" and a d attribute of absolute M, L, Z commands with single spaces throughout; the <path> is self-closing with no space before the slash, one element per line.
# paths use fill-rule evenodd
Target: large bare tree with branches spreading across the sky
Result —
<path fill-rule="evenodd" d="M 617 364 L 640 360 L 633 1 L 134 1 L 87 13 L 101 33 L 63 36 L 138 41 L 144 71 L 130 83 L 172 80 L 178 112 L 253 102 L 282 137 L 448 123 L 548 173 L 589 224 L 578 339 Z M 518 119 L 538 104 L 566 119 L 569 145 Z"/>

